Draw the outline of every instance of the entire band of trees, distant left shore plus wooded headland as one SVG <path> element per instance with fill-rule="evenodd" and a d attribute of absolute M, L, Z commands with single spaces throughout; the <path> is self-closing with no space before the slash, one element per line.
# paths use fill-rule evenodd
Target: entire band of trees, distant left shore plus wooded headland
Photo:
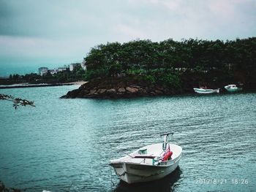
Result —
<path fill-rule="evenodd" d="M 139 76 L 151 84 L 190 90 L 198 84 L 219 87 L 238 82 L 256 88 L 256 37 L 226 42 L 200 39 L 112 42 L 91 48 L 84 61 L 86 71 L 76 66 L 72 72 L 67 69 L 43 76 L 13 74 L 7 80 L 0 80 L 0 84 Z"/>

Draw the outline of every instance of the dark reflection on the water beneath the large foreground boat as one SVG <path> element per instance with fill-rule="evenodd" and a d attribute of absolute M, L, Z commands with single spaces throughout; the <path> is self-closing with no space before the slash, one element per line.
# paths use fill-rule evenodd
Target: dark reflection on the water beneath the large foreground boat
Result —
<path fill-rule="evenodd" d="M 166 177 L 161 180 L 156 180 L 148 183 L 135 183 L 135 184 L 127 184 L 124 181 L 120 180 L 116 189 L 113 191 L 116 192 L 127 192 L 127 191 L 157 191 L 157 192 L 170 192 L 175 191 L 175 185 L 178 180 L 181 179 L 181 169 L 178 168 L 168 174 Z"/>

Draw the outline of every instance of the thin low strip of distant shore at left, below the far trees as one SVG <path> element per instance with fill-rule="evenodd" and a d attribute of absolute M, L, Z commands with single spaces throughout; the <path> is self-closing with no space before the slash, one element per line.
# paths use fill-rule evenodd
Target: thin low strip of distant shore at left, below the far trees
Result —
<path fill-rule="evenodd" d="M 53 87 L 53 86 L 64 86 L 64 85 L 83 85 L 86 81 L 76 81 L 76 82 L 64 82 L 64 83 L 40 83 L 40 84 L 29 84 L 29 83 L 20 83 L 12 85 L 0 85 L 0 89 L 7 88 L 37 88 L 37 87 Z"/>

